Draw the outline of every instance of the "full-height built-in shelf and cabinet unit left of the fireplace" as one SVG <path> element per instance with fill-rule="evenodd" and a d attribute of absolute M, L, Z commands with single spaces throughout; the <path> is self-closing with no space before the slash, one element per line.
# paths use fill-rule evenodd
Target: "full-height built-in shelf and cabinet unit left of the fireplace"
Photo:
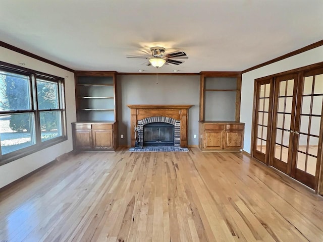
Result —
<path fill-rule="evenodd" d="M 76 116 L 72 124 L 76 150 L 118 147 L 116 72 L 75 72 Z"/>

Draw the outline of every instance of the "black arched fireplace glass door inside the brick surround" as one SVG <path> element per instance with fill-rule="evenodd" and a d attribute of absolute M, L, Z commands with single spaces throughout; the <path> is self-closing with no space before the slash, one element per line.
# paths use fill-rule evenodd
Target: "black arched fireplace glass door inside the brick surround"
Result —
<path fill-rule="evenodd" d="M 155 122 L 143 127 L 144 146 L 174 146 L 174 125 Z"/>

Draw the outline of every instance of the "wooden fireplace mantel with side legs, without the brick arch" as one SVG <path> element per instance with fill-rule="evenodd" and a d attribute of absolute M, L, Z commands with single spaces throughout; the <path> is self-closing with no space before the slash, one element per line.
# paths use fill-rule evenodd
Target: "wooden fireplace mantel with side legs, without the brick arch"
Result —
<path fill-rule="evenodd" d="M 131 147 L 135 146 L 135 127 L 138 120 L 153 116 L 166 116 L 181 121 L 181 147 L 187 147 L 188 109 L 194 105 L 127 105 L 130 108 Z"/>

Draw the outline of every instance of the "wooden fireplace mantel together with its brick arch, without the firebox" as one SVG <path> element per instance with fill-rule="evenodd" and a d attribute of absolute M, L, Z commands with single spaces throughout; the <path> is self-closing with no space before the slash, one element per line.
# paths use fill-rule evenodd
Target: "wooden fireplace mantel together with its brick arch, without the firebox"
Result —
<path fill-rule="evenodd" d="M 187 147 L 188 109 L 193 105 L 128 105 L 130 108 L 131 147 L 135 147 L 135 128 L 143 139 L 143 125 L 165 122 L 175 126 L 176 147 Z"/>

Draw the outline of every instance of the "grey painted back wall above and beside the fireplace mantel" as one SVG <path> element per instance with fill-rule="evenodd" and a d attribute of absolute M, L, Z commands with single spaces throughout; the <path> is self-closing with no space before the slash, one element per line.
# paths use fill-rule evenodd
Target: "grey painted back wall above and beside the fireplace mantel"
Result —
<path fill-rule="evenodd" d="M 119 144 L 130 146 L 130 108 L 128 104 L 191 104 L 188 110 L 188 145 L 198 145 L 199 76 L 118 76 Z M 120 135 L 124 139 L 120 139 Z"/>

